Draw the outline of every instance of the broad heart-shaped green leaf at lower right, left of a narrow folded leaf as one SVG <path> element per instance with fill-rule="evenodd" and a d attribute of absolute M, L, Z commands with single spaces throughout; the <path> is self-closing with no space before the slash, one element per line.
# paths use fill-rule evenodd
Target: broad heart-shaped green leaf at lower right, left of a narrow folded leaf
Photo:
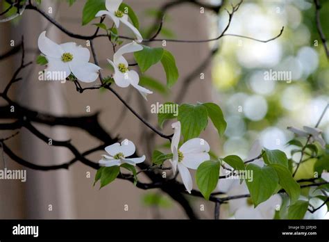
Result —
<path fill-rule="evenodd" d="M 276 170 L 269 166 L 260 168 L 260 166 L 255 164 L 249 164 L 246 166 L 246 170 L 246 174 L 250 174 L 253 178 L 245 179 L 245 181 L 253 204 L 257 207 L 261 202 L 268 200 L 276 191 L 278 175 L 276 175 Z"/>

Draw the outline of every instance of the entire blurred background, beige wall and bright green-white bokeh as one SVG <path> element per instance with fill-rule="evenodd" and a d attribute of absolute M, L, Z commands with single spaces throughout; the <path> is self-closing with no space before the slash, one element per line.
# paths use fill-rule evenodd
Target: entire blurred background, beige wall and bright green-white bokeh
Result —
<path fill-rule="evenodd" d="M 142 35 L 145 36 L 160 6 L 167 1 L 125 2 L 137 13 Z M 216 0 L 204 2 L 221 4 L 221 1 Z M 226 1 L 225 7 L 230 9 L 230 3 L 237 2 Z M 323 32 L 329 36 L 329 2 L 320 2 Z M 69 8 L 66 1 L 43 0 L 40 8 L 52 8 L 49 15 L 70 31 L 90 35 L 94 33 L 95 26 L 81 26 L 84 3 L 78 0 Z M 203 13 L 198 6 L 189 3 L 180 4 L 167 13 L 160 36 L 188 40 L 214 38 L 221 33 L 227 22 L 228 14 L 223 8 L 219 15 L 215 15 L 210 10 Z M 106 23 L 110 25 L 110 20 L 107 19 Z M 151 113 L 151 104 L 173 102 L 181 95 L 181 90 L 184 97 L 179 103 L 219 104 L 228 122 L 225 136 L 219 138 L 210 124 L 201 137 L 210 143 L 212 151 L 220 157 L 237 154 L 246 158 L 255 140 L 260 140 L 268 149 L 285 150 L 289 156 L 290 150 L 287 150 L 285 144 L 293 135 L 287 131 L 287 127 L 314 126 L 329 102 L 328 60 L 317 33 L 313 1 L 244 1 L 235 13 L 227 33 L 267 40 L 278 35 L 282 26 L 285 26 L 285 31 L 280 38 L 267 43 L 233 36 L 203 44 L 168 42 L 167 49 L 174 54 L 180 71 L 176 86 L 167 90 L 164 85 L 165 74 L 160 65 L 155 65 L 146 75 L 162 84 L 160 88 L 153 89 L 158 93 L 149 95 L 148 102 L 131 88 L 115 89 L 154 125 L 157 124 L 157 117 Z M 83 40 L 71 39 L 58 31 L 56 26 L 49 24 L 35 11 L 26 10 L 19 19 L 0 23 L 0 54 L 12 48 L 10 40 L 19 43 L 24 35 L 26 60 L 35 61 L 40 54 L 37 38 L 44 30 L 47 30 L 49 38 L 58 43 L 74 41 L 86 46 Z M 119 31 L 123 35 L 130 35 L 122 26 Z M 110 74 L 106 58 L 112 58 L 112 46 L 108 40 L 101 38 L 95 41 L 95 45 L 104 74 Z M 160 44 L 152 43 L 151 46 Z M 217 47 L 219 50 L 209 65 L 196 75 L 189 87 L 184 86 L 186 76 L 209 58 L 212 49 Z M 1 90 L 19 65 L 19 60 L 19 54 L 0 60 Z M 24 82 L 12 88 L 10 97 L 19 104 L 54 115 L 89 115 L 100 111 L 99 120 L 112 137 L 133 140 L 137 149 L 144 151 L 146 157 L 151 157 L 155 148 L 166 149 L 168 144 L 153 136 L 111 93 L 95 90 L 79 94 L 73 83 L 37 81 L 40 70 L 42 67 L 35 64 L 25 70 Z M 289 71 L 292 73 L 292 81 L 266 81 L 264 72 L 269 70 Z M 204 79 L 201 79 L 201 74 Z M 0 105 L 4 104 L 0 100 Z M 88 106 L 90 113 L 87 112 Z M 58 140 L 71 138 L 80 151 L 99 145 L 98 140 L 78 129 L 49 128 L 39 124 L 37 128 Z M 319 128 L 323 130 L 323 138 L 328 143 L 328 113 Z M 164 132 L 171 133 L 169 125 Z M 1 131 L 1 137 L 8 134 Z M 64 148 L 49 147 L 24 129 L 19 136 L 8 141 L 8 146 L 24 159 L 42 165 L 63 163 L 71 158 L 71 154 Z M 103 152 L 88 158 L 96 162 L 101 154 Z M 8 168 L 19 168 L 8 156 L 5 159 Z M 94 170 L 81 163 L 74 164 L 69 170 L 27 170 L 26 183 L 0 181 L 0 218 L 187 218 L 183 209 L 160 190 L 141 191 L 128 181 L 117 180 L 99 191 L 98 186 L 92 186 Z M 148 181 L 143 176 L 140 179 Z M 213 218 L 214 204 L 189 196 L 187 199 L 200 218 Z M 126 205 L 128 211 L 125 211 Z M 233 216 L 228 206 L 221 207 L 221 218 Z"/>

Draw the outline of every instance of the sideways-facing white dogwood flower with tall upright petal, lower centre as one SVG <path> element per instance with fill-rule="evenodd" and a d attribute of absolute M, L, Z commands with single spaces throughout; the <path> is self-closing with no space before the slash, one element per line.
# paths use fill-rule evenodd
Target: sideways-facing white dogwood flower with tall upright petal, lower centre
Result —
<path fill-rule="evenodd" d="M 173 158 L 170 160 L 171 166 L 174 173 L 176 173 L 176 169 L 178 168 L 186 190 L 191 193 L 193 181 L 187 168 L 196 170 L 203 161 L 208 161 L 210 159 L 208 154 L 210 147 L 205 140 L 201 138 L 192 138 L 187 140 L 178 149 L 180 122 L 174 122 L 171 124 L 171 127 L 174 129 L 174 136 L 171 140 L 171 152 L 173 153 Z"/>

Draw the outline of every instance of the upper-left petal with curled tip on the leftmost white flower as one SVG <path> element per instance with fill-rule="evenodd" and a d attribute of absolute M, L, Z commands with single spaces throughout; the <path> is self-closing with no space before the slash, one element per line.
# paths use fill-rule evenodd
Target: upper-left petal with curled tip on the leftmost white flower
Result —
<path fill-rule="evenodd" d="M 60 45 L 46 37 L 46 31 L 40 33 L 39 38 L 37 39 L 37 46 L 42 54 L 49 57 L 60 58 L 64 53 Z"/>

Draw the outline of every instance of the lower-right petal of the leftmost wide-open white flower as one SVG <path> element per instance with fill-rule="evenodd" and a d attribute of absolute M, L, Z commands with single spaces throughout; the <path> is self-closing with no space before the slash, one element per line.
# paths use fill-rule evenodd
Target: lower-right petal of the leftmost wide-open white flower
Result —
<path fill-rule="evenodd" d="M 96 81 L 99 76 L 99 70 L 101 69 L 97 65 L 84 61 L 72 61 L 69 63 L 69 67 L 77 79 L 86 83 Z"/>

